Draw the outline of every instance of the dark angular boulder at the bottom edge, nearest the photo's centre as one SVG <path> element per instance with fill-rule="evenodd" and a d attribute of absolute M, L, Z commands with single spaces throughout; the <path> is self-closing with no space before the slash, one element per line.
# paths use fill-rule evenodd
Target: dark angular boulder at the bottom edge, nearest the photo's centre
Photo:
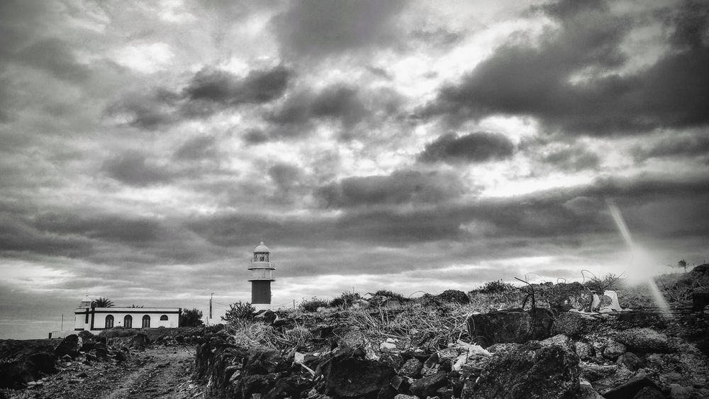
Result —
<path fill-rule="evenodd" d="M 327 395 L 366 396 L 379 393 L 391 381 L 391 367 L 378 361 L 335 356 L 321 368 Z"/>

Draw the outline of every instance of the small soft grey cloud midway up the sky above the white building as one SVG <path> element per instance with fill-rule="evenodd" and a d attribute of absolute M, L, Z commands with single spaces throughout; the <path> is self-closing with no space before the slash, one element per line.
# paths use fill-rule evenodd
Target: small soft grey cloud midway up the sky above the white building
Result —
<path fill-rule="evenodd" d="M 113 179 L 130 186 L 150 186 L 164 184 L 174 178 L 165 167 L 147 159 L 147 155 L 137 151 L 126 151 L 107 159 L 101 169 Z"/>

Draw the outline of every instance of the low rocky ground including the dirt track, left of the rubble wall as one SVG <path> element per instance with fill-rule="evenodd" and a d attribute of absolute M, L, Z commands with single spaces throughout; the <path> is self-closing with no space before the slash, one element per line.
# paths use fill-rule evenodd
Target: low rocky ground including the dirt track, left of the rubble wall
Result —
<path fill-rule="evenodd" d="M 6 388 L 0 398 L 193 397 L 201 390 L 190 378 L 194 342 L 159 338 L 106 339 L 82 332 L 66 339 L 1 341 L 0 383 Z"/>

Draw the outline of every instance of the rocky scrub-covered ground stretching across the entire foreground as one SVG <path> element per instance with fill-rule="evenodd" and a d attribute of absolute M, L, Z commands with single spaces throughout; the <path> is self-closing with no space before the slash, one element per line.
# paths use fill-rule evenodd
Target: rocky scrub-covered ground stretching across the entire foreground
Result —
<path fill-rule="evenodd" d="M 696 275 L 668 291 L 669 312 L 632 293 L 594 308 L 587 286 L 547 283 L 0 341 L 0 398 L 709 398 Z"/>

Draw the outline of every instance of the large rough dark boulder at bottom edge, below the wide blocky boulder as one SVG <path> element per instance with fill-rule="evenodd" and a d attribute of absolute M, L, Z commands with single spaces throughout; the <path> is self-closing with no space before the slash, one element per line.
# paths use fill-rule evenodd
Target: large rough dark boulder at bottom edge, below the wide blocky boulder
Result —
<path fill-rule="evenodd" d="M 579 356 L 538 342 L 493 354 L 463 398 L 566 398 L 579 390 Z"/>

